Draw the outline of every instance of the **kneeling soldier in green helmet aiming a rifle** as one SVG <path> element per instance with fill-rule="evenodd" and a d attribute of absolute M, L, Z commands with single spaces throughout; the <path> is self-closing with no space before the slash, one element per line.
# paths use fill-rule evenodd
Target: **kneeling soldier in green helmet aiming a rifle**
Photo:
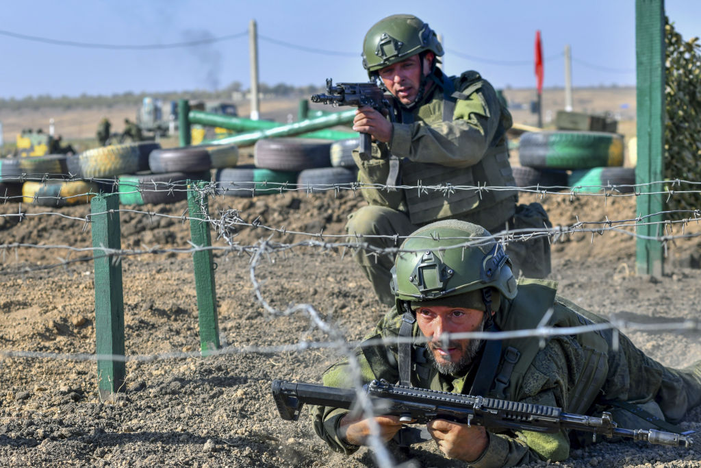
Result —
<path fill-rule="evenodd" d="M 511 114 L 491 84 L 479 73 L 447 76 L 437 67 L 443 48 L 433 29 L 411 15 L 380 20 L 365 35 L 362 63 L 370 79 L 393 96 L 391 122 L 361 107 L 353 130 L 374 138 L 372 157 L 355 162 L 359 180 L 371 185 L 515 186 L 506 131 Z M 348 220 L 351 240 L 376 247 L 395 247 L 394 239 L 416 227 L 444 218 L 461 219 L 503 229 L 550 227 L 539 203 L 517 206 L 514 190 L 456 190 L 451 194 L 418 189 L 369 189 L 362 194 L 369 206 Z M 368 236 L 368 237 L 361 237 Z M 509 253 L 515 272 L 544 278 L 550 272 L 550 245 L 540 238 L 512 243 Z M 393 305 L 390 294 L 390 256 L 369 257 L 362 250 L 355 259 L 371 281 L 376 295 Z"/>

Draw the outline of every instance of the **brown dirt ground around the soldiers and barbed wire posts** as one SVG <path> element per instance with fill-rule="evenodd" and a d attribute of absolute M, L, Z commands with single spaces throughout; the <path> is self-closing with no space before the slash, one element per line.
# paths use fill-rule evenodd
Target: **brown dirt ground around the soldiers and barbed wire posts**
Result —
<path fill-rule="evenodd" d="M 522 195 L 522 202 L 533 199 L 545 205 L 554 225 L 629 220 L 637 213 L 633 197 Z M 180 218 L 186 202 L 122 211 L 122 247 L 152 253 L 128 255 L 121 262 L 130 360 L 125 392 L 116 401 L 100 400 L 97 366 L 90 359 L 95 353 L 94 272 L 93 262 L 81 258 L 91 253 L 50 247 L 92 245 L 84 222 L 89 207 L 0 206 L 0 243 L 32 244 L 0 248 L 0 465 L 374 466 L 366 448 L 348 459 L 327 450 L 306 417 L 280 420 L 270 394 L 273 379 L 320 382 L 323 370 L 340 356 L 334 347 L 299 346 L 331 337 L 304 309 L 290 312 L 291 305 L 313 307 L 347 342 L 361 339 L 383 314 L 353 258 L 336 248 L 297 246 L 269 250 L 251 262 L 250 252 L 236 251 L 261 240 L 336 241 L 333 235 L 343 232 L 346 216 L 361 203 L 358 194 L 348 192 L 211 199 L 212 218 L 234 209 L 259 227 L 230 231 L 236 234 L 234 248 L 215 250 L 223 348 L 222 354 L 206 358 L 197 352 L 191 255 L 156 250 L 189 248 L 189 225 Z M 25 213 L 21 222 L 17 213 Z M 286 233 L 273 235 L 264 226 L 285 227 Z M 681 227 L 674 229 L 681 233 Z M 688 225 L 685 232 L 699 229 Z M 290 234 L 295 231 L 316 235 Z M 699 238 L 669 244 L 665 275 L 639 276 L 630 232 L 575 234 L 554 243 L 551 276 L 559 281 L 559 293 L 629 323 L 697 326 Z M 227 246 L 223 239 L 213 243 Z M 262 307 L 257 291 L 278 313 Z M 625 331 L 667 366 L 701 359 L 698 328 Z M 284 345 L 290 349 L 280 350 Z M 701 429 L 701 408 L 681 426 Z M 414 455 L 426 467 L 458 466 L 444 460 L 433 443 L 416 446 Z M 700 460 L 698 444 L 687 449 L 627 442 L 573 450 L 569 461 L 555 465 L 701 467 Z"/>

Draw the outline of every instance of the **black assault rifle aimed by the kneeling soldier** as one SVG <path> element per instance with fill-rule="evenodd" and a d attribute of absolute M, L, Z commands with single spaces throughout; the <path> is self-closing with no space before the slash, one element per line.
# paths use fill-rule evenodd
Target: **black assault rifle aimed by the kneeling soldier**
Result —
<path fill-rule="evenodd" d="M 370 106 L 378 112 L 390 108 L 390 103 L 385 94 L 375 83 L 334 83 L 332 79 L 326 79 L 326 92 L 328 94 L 313 94 L 311 102 L 322 102 L 334 106 Z M 390 112 L 391 115 L 391 112 Z M 360 133 L 360 157 L 370 158 L 370 135 Z"/>

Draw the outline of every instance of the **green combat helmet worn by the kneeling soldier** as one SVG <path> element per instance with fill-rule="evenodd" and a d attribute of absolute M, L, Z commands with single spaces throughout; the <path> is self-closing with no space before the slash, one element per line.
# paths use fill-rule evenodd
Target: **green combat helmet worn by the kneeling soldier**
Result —
<path fill-rule="evenodd" d="M 362 66 L 370 79 L 379 69 L 401 62 L 423 51 L 443 55 L 443 47 L 433 29 L 413 15 L 392 15 L 379 20 L 365 34 Z"/>

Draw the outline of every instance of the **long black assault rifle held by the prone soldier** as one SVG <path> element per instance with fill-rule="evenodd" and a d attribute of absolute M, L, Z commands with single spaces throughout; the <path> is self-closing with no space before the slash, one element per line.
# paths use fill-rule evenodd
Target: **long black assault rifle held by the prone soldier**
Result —
<path fill-rule="evenodd" d="M 622 429 L 611 420 L 611 413 L 601 417 L 565 413 L 562 408 L 518 401 L 498 400 L 440 392 L 437 390 L 391 385 L 386 380 L 373 380 L 363 387 L 372 408 L 379 415 L 398 415 L 400 421 L 426 424 L 435 419 L 475 424 L 493 429 L 517 431 L 558 432 L 560 429 L 603 434 L 608 437 L 629 437 L 665 446 L 690 447 L 690 434 L 658 431 L 657 429 Z M 355 408 L 353 389 L 339 389 L 305 383 L 273 380 L 273 398 L 283 420 L 296 421 L 304 403 L 332 408 Z M 416 443 L 423 440 L 414 440 Z"/>

